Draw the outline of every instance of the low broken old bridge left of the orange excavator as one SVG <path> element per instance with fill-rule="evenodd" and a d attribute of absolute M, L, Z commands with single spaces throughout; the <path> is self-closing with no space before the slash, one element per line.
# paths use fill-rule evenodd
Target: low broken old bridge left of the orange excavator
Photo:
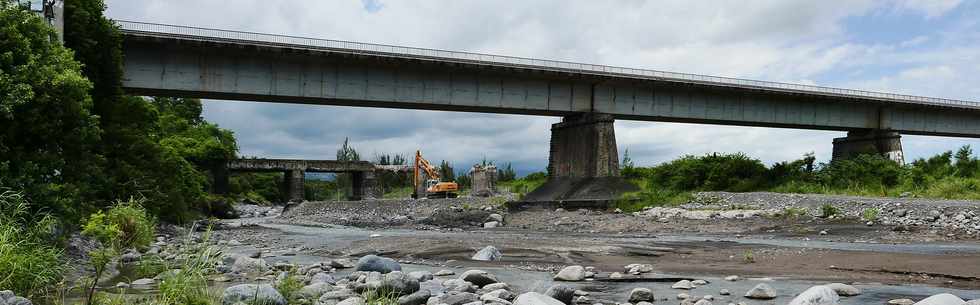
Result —
<path fill-rule="evenodd" d="M 283 192 L 288 201 L 303 200 L 303 181 L 307 172 L 349 173 L 352 177 L 352 200 L 378 197 L 375 171 L 378 168 L 368 161 L 291 160 L 291 159 L 235 159 L 224 168 L 215 171 L 215 191 L 228 190 L 228 175 L 234 172 L 282 172 Z"/>

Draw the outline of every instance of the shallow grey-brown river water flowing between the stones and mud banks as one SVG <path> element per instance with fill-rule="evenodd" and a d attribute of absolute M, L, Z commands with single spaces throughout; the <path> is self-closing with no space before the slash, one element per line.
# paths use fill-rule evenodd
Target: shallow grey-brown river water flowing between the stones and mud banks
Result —
<path fill-rule="evenodd" d="M 272 224 L 272 223 L 261 223 L 260 226 L 274 229 L 282 232 L 282 238 L 288 239 L 290 241 L 299 242 L 304 244 L 309 248 L 343 248 L 348 247 L 359 241 L 364 241 L 370 239 L 372 234 L 381 235 L 384 238 L 397 238 L 397 237 L 453 237 L 465 239 L 471 234 L 495 234 L 502 235 L 504 238 L 508 236 L 526 236 L 528 232 L 514 232 L 508 230 L 494 230 L 494 231 L 478 231 L 478 232 L 442 232 L 442 231 L 415 231 L 415 230 L 371 230 L 371 229 L 361 229 L 361 228 L 351 228 L 342 226 L 327 226 L 327 227 L 306 227 L 306 226 L 296 226 L 287 224 Z M 534 233 L 541 235 L 557 234 L 557 233 Z M 566 237 L 568 234 L 565 234 Z M 595 238 L 595 235 L 590 235 L 589 237 Z M 672 236 L 658 236 L 655 238 L 651 237 L 625 237 L 625 236 L 608 236 L 606 238 L 616 239 L 622 238 L 632 243 L 645 243 L 645 242 L 672 242 L 672 243 L 703 243 L 703 242 L 733 242 L 733 243 L 745 243 L 745 244 L 764 244 L 764 245 L 774 245 L 782 247 L 801 247 L 801 248 L 821 248 L 821 249 L 835 249 L 835 250 L 863 250 L 863 251 L 878 251 L 878 252 L 888 252 L 888 253 L 923 253 L 923 254 L 945 254 L 945 253 L 978 253 L 980 252 L 980 245 L 974 243 L 961 243 L 961 244 L 870 244 L 870 243 L 848 243 L 848 242 L 828 242 L 828 241 L 807 241 L 799 239 L 788 239 L 788 238 L 778 238 L 778 237 L 759 237 L 753 236 L 752 238 L 728 238 L 722 236 L 683 236 L 683 235 L 672 235 Z M 238 249 L 230 249 L 231 251 L 253 251 L 252 247 L 240 247 Z M 506 255 L 507 253 L 505 253 Z M 317 261 L 322 261 L 325 258 L 310 256 L 310 255 L 297 255 L 290 257 L 274 257 L 269 258 L 270 261 L 288 261 L 293 263 L 313 263 Z M 415 270 L 428 270 L 428 271 L 438 271 L 441 269 L 450 269 L 456 271 L 457 274 L 462 273 L 469 265 L 473 267 L 474 265 L 468 262 L 458 262 L 454 265 L 461 265 L 462 268 L 446 268 L 446 267 L 433 267 L 424 265 L 409 265 L 405 264 L 404 269 L 406 271 Z M 485 264 L 476 265 L 480 269 L 490 271 L 497 275 L 497 277 L 511 286 L 517 287 L 518 291 L 537 291 L 544 292 L 548 287 L 555 284 L 552 280 L 552 274 L 547 272 L 534 272 L 525 271 L 517 268 L 507 268 L 501 266 L 487 266 Z M 564 283 L 578 289 L 585 291 L 590 291 L 590 296 L 593 302 L 602 300 L 605 303 L 612 302 L 625 302 L 625 298 L 629 291 L 636 287 L 646 287 L 652 289 L 658 299 L 671 300 L 671 303 L 676 302 L 675 297 L 678 293 L 688 293 L 690 295 L 701 296 L 701 295 L 713 295 L 716 299 L 716 304 L 727 304 L 728 302 L 745 302 L 747 304 L 785 304 L 792 299 L 792 297 L 806 290 L 807 288 L 826 284 L 826 282 L 815 282 L 810 281 L 805 278 L 800 278 L 799 276 L 794 278 L 780 278 L 778 276 L 773 276 L 770 278 L 763 279 L 743 279 L 736 282 L 724 281 L 722 278 L 726 276 L 725 274 L 719 274 L 715 276 L 704 277 L 691 276 L 691 275 L 672 275 L 677 277 L 685 278 L 697 278 L 704 279 L 710 282 L 707 286 L 702 286 L 691 291 L 683 291 L 677 289 L 671 289 L 670 285 L 672 283 L 652 283 L 652 282 L 635 282 L 635 283 L 612 283 L 612 282 L 579 282 L 579 283 Z M 748 291 L 753 286 L 758 283 L 767 283 L 774 287 L 779 292 L 779 297 L 775 300 L 770 301 L 752 301 L 741 297 L 745 291 Z M 861 288 L 864 293 L 856 297 L 850 297 L 842 299 L 841 304 L 884 304 L 890 299 L 896 298 L 910 298 L 913 300 L 923 299 L 930 295 L 938 293 L 952 293 L 960 296 L 963 299 L 980 299 L 980 291 L 976 290 L 961 290 L 952 289 L 944 287 L 930 287 L 930 286 L 915 286 L 915 285 L 883 285 L 876 283 L 856 283 L 854 286 Z M 728 289 L 732 292 L 732 296 L 721 296 L 719 292 L 721 289 Z"/>

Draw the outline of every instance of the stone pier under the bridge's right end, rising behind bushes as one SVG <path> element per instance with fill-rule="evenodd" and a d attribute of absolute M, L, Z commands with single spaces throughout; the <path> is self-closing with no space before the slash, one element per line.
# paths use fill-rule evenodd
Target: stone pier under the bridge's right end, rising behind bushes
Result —
<path fill-rule="evenodd" d="M 834 160 L 868 153 L 881 154 L 898 164 L 905 164 L 902 136 L 898 132 L 880 129 L 854 130 L 848 131 L 847 137 L 834 139 Z"/>

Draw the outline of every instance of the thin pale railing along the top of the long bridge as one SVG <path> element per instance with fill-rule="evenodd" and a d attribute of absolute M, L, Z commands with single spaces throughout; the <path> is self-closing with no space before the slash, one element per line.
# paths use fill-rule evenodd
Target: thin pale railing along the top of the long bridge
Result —
<path fill-rule="evenodd" d="M 404 47 L 385 44 L 363 43 L 343 40 L 319 39 L 288 35 L 274 35 L 245 31 L 219 30 L 191 26 L 178 26 L 160 23 L 116 20 L 123 31 L 133 34 L 184 39 L 232 42 L 283 46 L 300 49 L 326 50 L 331 52 L 371 54 L 377 56 L 404 57 L 423 60 L 476 63 L 550 70 L 558 72 L 582 73 L 615 77 L 653 79 L 669 82 L 697 83 L 713 86 L 750 88 L 770 91 L 783 91 L 802 94 L 833 95 L 848 98 L 871 99 L 886 102 L 928 104 L 958 108 L 980 109 L 980 102 L 936 97 L 924 97 L 865 90 L 832 88 L 823 86 L 760 81 L 721 76 L 668 72 L 660 70 L 636 69 L 558 60 L 534 59 L 516 56 L 492 55 L 472 52 L 458 52 L 427 48 Z"/>

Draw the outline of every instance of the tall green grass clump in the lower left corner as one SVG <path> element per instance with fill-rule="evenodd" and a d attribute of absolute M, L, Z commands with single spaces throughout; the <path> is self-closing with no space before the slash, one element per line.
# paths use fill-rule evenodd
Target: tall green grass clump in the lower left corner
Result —
<path fill-rule="evenodd" d="M 31 215 L 29 206 L 19 193 L 0 193 L 0 290 L 28 298 L 47 295 L 66 269 L 52 246 L 55 219 Z"/>

